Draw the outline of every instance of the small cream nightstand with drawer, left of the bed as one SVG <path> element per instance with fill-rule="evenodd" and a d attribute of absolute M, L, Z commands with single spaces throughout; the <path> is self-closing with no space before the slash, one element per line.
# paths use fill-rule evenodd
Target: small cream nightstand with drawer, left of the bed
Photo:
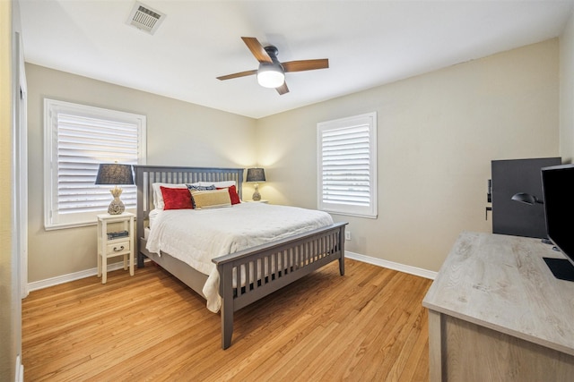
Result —
<path fill-rule="evenodd" d="M 108 279 L 108 258 L 116 256 L 124 256 L 124 269 L 127 269 L 129 256 L 129 274 L 134 276 L 134 217 L 129 212 L 98 215 L 98 277 L 101 276 L 101 284 L 106 284 Z"/>

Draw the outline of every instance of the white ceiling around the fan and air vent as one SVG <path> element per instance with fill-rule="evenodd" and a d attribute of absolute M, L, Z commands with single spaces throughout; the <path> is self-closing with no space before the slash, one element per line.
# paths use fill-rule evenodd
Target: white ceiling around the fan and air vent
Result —
<path fill-rule="evenodd" d="M 167 17 L 154 35 L 127 24 L 135 0 L 19 0 L 25 60 L 260 118 L 554 38 L 570 1 L 142 0 Z M 240 37 L 280 61 L 328 58 L 287 73 L 290 93 L 257 85 Z"/>

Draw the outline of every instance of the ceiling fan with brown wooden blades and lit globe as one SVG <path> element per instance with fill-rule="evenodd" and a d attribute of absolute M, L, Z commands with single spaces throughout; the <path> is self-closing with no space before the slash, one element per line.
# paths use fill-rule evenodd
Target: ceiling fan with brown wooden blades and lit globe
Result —
<path fill-rule="evenodd" d="M 289 93 L 289 88 L 287 88 L 287 84 L 285 83 L 286 72 L 312 71 L 329 67 L 328 58 L 280 63 L 277 59 L 277 54 L 279 53 L 277 47 L 263 47 L 257 38 L 241 39 L 245 42 L 245 45 L 248 46 L 251 53 L 255 55 L 255 58 L 257 58 L 259 68 L 253 71 L 238 72 L 217 77 L 218 80 L 230 80 L 233 78 L 257 74 L 257 82 L 259 82 L 259 85 L 265 88 L 274 88 L 280 95 L 283 95 L 285 93 Z"/>

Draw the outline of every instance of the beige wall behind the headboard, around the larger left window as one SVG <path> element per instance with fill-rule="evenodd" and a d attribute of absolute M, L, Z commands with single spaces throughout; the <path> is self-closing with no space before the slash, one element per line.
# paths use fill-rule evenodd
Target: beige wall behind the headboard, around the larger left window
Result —
<path fill-rule="evenodd" d="M 251 118 L 34 64 L 26 65 L 26 75 L 29 95 L 29 282 L 96 267 L 95 225 L 44 230 L 44 98 L 146 115 L 148 165 L 247 167 L 256 164 L 256 126 Z"/>

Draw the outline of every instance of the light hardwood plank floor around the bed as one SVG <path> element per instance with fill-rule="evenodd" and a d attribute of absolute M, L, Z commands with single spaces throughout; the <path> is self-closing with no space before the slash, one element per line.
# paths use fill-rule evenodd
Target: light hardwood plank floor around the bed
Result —
<path fill-rule="evenodd" d="M 347 259 L 220 317 L 160 267 L 110 272 L 22 301 L 26 381 L 427 381 L 431 280 Z"/>

